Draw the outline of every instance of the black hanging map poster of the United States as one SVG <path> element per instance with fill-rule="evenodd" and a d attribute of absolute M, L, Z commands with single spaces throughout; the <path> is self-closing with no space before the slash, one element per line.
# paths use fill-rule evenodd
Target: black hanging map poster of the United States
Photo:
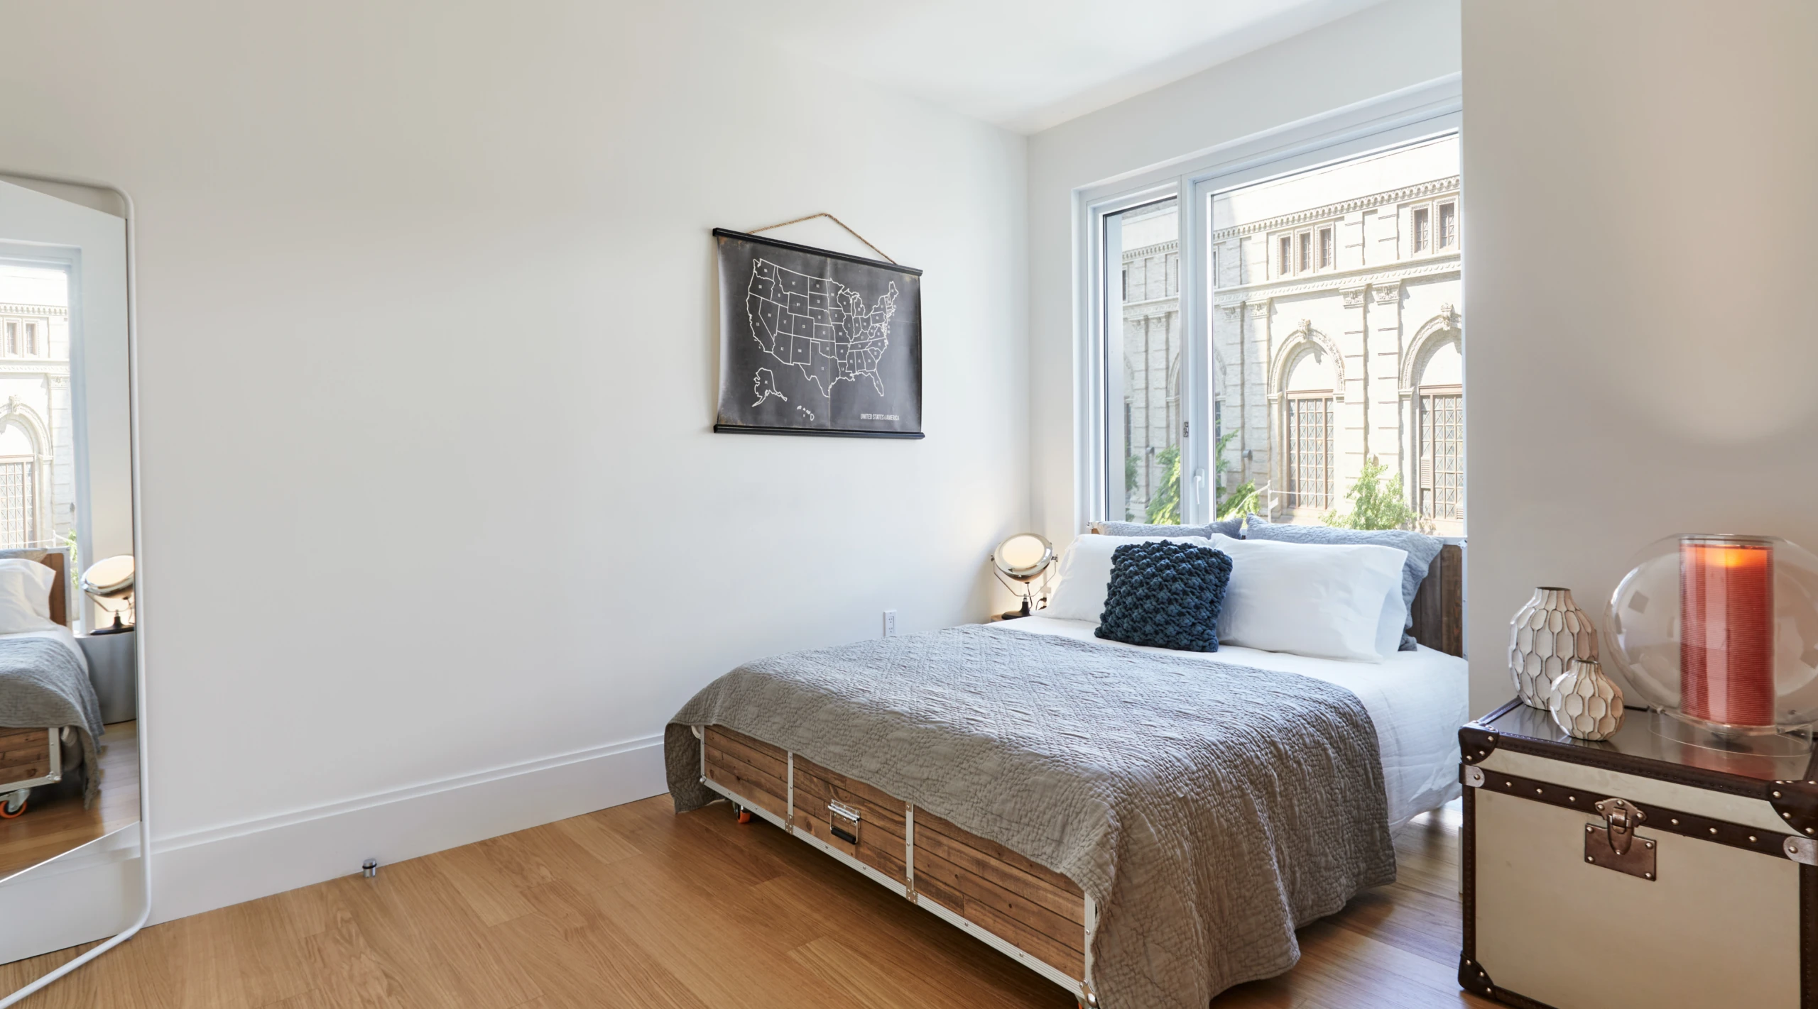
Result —
<path fill-rule="evenodd" d="M 713 229 L 720 418 L 754 435 L 922 436 L 922 271 Z"/>

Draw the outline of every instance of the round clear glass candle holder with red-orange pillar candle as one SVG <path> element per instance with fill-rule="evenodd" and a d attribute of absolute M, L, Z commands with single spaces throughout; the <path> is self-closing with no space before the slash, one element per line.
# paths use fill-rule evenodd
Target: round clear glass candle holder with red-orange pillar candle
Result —
<path fill-rule="evenodd" d="M 1667 536 L 1603 611 L 1607 658 L 1654 731 L 1709 749 L 1809 753 L 1818 722 L 1818 558 L 1778 536 Z"/>

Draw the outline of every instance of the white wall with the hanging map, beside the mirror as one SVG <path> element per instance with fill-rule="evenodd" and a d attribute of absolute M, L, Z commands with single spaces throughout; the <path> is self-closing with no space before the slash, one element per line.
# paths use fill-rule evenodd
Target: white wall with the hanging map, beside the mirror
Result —
<path fill-rule="evenodd" d="M 1000 602 L 1024 138 L 673 7 L 7 13 L 0 169 L 142 216 L 158 918 L 653 794 L 734 664 Z M 924 442 L 709 433 L 707 231 L 813 211 L 927 271 Z"/>

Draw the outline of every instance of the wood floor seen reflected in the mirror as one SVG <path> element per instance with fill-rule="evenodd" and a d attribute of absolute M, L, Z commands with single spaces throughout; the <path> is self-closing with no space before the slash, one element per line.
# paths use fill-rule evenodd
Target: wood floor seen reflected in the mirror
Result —
<path fill-rule="evenodd" d="M 107 725 L 96 764 L 95 805 L 82 809 L 80 793 L 45 798 L 33 789 L 25 813 L 0 820 L 0 880 L 138 822 L 138 722 Z"/>

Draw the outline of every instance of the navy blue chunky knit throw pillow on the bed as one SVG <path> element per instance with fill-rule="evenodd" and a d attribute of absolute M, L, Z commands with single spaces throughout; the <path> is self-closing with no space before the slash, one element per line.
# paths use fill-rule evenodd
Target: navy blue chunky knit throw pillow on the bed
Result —
<path fill-rule="evenodd" d="M 1218 651 L 1218 609 L 1231 584 L 1224 551 L 1154 540 L 1111 553 L 1100 638 L 1176 651 Z"/>

